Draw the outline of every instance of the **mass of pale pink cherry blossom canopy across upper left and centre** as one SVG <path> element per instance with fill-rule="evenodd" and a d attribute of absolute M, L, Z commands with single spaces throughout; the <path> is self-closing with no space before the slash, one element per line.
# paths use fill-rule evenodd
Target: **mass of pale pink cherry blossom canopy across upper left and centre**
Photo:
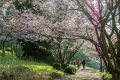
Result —
<path fill-rule="evenodd" d="M 12 30 L 9 31 L 16 39 L 37 41 L 48 38 L 56 40 L 74 38 L 78 40 L 79 38 L 75 38 L 74 35 L 87 35 L 86 30 L 90 33 L 89 36 L 94 34 L 91 27 L 88 25 L 84 27 L 86 17 L 82 12 L 77 11 L 77 6 L 72 1 L 11 0 L 9 4 L 14 4 L 16 9 L 7 21 L 7 24 L 12 26 Z"/>

